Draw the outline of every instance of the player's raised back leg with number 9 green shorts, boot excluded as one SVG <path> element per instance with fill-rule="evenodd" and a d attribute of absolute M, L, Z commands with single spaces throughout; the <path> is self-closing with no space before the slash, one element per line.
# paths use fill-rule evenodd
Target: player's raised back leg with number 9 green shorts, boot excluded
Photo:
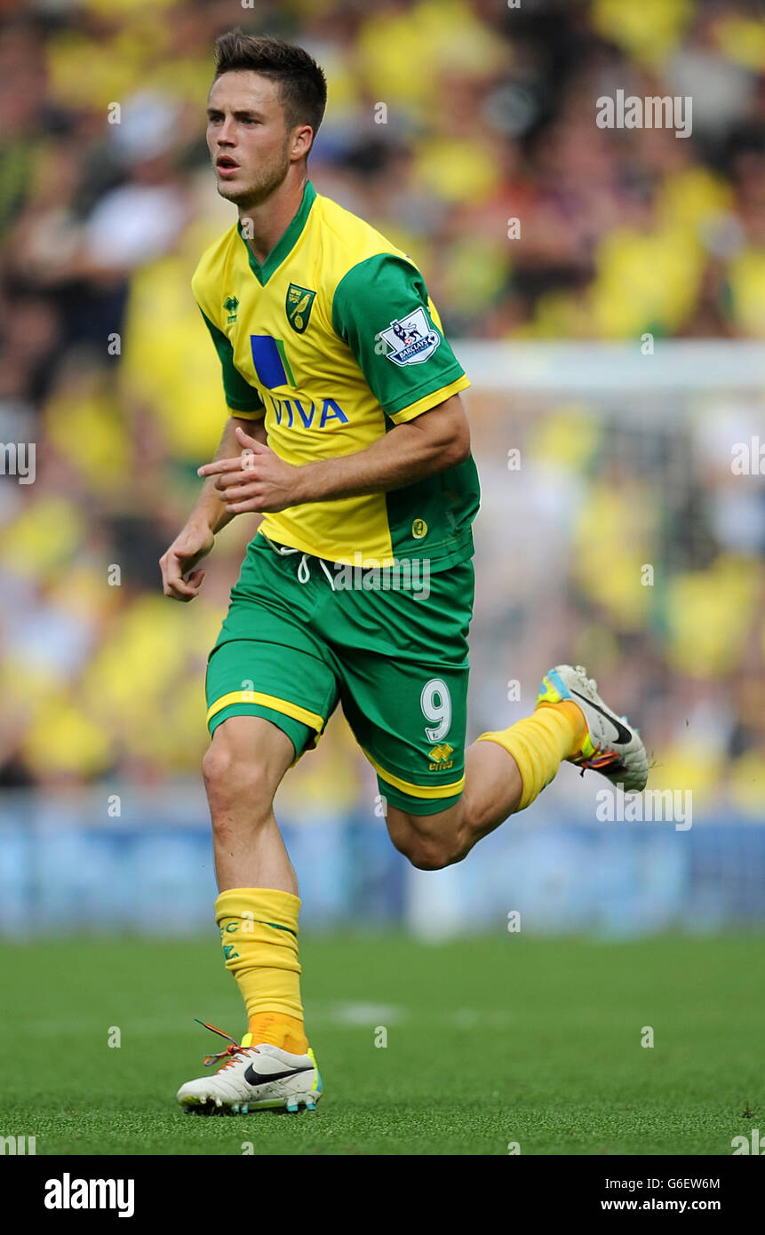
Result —
<path fill-rule="evenodd" d="M 465 857 L 528 805 L 587 731 L 578 706 L 559 700 L 465 751 L 472 594 L 471 562 L 433 573 L 416 598 L 340 593 L 342 708 L 377 771 L 391 839 L 423 869 Z"/>

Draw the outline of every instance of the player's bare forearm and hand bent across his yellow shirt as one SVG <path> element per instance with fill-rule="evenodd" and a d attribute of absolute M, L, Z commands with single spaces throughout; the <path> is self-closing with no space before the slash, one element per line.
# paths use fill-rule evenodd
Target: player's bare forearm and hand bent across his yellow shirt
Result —
<path fill-rule="evenodd" d="M 459 395 L 395 425 L 363 451 L 294 467 L 245 430 L 236 445 L 247 453 L 205 463 L 229 515 L 277 511 L 306 501 L 330 501 L 400 489 L 436 475 L 470 454 L 470 427 Z"/>

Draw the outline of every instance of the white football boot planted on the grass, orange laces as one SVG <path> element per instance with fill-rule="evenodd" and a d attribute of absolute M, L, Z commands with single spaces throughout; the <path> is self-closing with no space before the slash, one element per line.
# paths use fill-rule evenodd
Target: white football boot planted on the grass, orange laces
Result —
<path fill-rule="evenodd" d="M 218 1072 L 180 1086 L 178 1102 L 187 1114 L 246 1115 L 251 1110 L 279 1107 L 297 1113 L 300 1105 L 306 1110 L 316 1109 L 321 1076 L 310 1047 L 306 1055 L 290 1055 L 267 1042 L 253 1046 L 251 1034 L 237 1042 L 214 1025 L 200 1024 L 229 1039 L 231 1045 L 205 1058 L 206 1067 L 227 1060 Z"/>

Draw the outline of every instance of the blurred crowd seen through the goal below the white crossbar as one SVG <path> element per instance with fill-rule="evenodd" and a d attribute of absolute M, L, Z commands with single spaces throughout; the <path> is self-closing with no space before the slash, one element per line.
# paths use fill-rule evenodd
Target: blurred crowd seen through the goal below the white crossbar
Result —
<path fill-rule="evenodd" d="M 761 390 L 476 394 L 471 412 L 471 736 L 526 715 L 547 666 L 581 663 L 639 725 L 649 788 L 764 819 Z M 761 446 L 759 474 L 732 471 L 732 443 Z M 555 789 L 562 805 L 571 781 Z"/>

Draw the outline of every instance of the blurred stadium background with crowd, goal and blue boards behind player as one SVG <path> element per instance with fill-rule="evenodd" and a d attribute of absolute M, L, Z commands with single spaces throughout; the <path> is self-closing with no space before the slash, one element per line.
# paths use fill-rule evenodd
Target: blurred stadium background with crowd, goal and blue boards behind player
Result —
<path fill-rule="evenodd" d="M 423 874 L 336 716 L 278 802 L 304 926 L 445 937 L 520 909 L 539 934 L 761 927 L 765 459 L 732 471 L 735 443 L 765 442 L 759 6 L 0 14 L 0 440 L 36 443 L 33 484 L 0 477 L 0 931 L 150 931 L 159 913 L 211 930 L 203 676 L 255 521 L 221 536 L 190 606 L 162 597 L 157 559 L 225 415 L 189 279 L 232 220 L 204 106 L 234 25 L 324 65 L 311 179 L 415 258 L 473 378 L 468 737 L 582 662 L 639 720 L 649 787 L 693 794 L 690 830 L 607 824 L 602 782 L 564 768 L 468 862 Z M 691 95 L 692 136 L 597 128 L 617 89 Z"/>

